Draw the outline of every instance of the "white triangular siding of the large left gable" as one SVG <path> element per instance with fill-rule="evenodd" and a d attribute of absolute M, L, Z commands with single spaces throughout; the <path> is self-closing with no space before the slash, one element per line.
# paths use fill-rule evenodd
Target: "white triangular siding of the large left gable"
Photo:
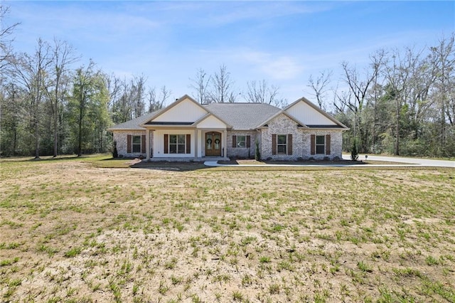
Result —
<path fill-rule="evenodd" d="M 178 105 L 166 110 L 152 119 L 153 122 L 195 122 L 207 115 L 207 111 L 191 100 L 183 100 Z"/>

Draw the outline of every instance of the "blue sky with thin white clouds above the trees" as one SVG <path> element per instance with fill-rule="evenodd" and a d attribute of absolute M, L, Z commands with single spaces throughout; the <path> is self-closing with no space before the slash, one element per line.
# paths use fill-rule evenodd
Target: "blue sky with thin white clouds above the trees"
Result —
<path fill-rule="evenodd" d="M 238 101 L 248 81 L 265 80 L 294 102 L 341 63 L 362 70 L 376 50 L 428 48 L 455 32 L 455 1 L 9 1 L 5 23 L 20 22 L 15 51 L 33 53 L 38 38 L 67 41 L 120 78 L 144 75 L 171 90 L 168 103 L 195 95 L 191 78 L 225 65 Z"/>

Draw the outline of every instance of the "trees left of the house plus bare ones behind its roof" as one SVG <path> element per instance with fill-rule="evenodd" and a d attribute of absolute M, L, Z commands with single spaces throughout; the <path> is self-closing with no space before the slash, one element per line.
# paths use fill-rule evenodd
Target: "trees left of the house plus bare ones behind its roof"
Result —
<path fill-rule="evenodd" d="M 0 21 L 8 9 L 0 6 Z M 15 52 L 11 37 L 17 26 L 0 31 L 1 156 L 110 151 L 110 126 L 160 110 L 171 97 L 166 85 L 147 87 L 144 75 L 122 79 L 103 72 L 92 60 L 75 68 L 81 55 L 56 38 L 38 38 L 31 53 Z M 225 65 L 213 75 L 199 69 L 189 81 L 201 103 L 236 102 L 240 95 Z M 284 104 L 278 87 L 265 80 L 248 85 L 248 102 Z"/>

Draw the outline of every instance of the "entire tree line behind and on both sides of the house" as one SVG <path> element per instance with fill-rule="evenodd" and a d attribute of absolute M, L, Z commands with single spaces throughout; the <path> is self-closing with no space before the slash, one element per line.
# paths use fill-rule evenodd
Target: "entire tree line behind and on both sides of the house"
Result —
<path fill-rule="evenodd" d="M 8 13 L 0 6 L 0 21 Z M 144 75 L 109 75 L 66 41 L 38 38 L 31 53 L 15 52 L 19 24 L 0 31 L 0 153 L 2 156 L 88 154 L 112 149 L 113 124 L 161 109 L 166 85 L 148 87 Z M 321 109 L 350 127 L 343 149 L 361 153 L 455 156 L 454 34 L 421 50 L 378 50 L 367 68 L 341 63 L 311 76 L 308 85 Z M 262 102 L 284 107 L 279 87 L 266 80 L 235 88 L 225 65 L 189 78 L 200 103 Z M 336 83 L 336 87 L 333 87 Z"/>

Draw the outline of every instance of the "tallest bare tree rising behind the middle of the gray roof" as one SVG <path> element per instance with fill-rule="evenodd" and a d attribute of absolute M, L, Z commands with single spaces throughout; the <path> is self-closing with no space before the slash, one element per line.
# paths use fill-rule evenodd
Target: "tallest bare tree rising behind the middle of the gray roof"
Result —
<path fill-rule="evenodd" d="M 211 80 L 210 102 L 235 102 L 235 95 L 232 92 L 233 82 L 230 80 L 226 65 L 220 65 L 218 73 L 215 73 Z"/>

